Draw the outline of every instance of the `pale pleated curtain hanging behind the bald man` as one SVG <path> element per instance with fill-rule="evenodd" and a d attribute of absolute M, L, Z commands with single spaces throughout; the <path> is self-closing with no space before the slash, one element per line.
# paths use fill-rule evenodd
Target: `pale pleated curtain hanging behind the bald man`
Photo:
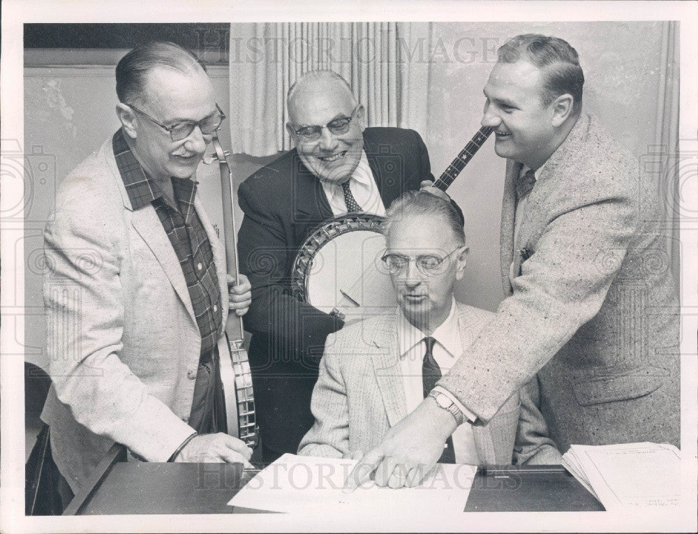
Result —
<path fill-rule="evenodd" d="M 368 126 L 424 131 L 431 24 L 281 22 L 232 24 L 230 128 L 235 154 L 271 156 L 291 148 L 285 96 L 297 78 L 330 69 L 366 107 Z"/>

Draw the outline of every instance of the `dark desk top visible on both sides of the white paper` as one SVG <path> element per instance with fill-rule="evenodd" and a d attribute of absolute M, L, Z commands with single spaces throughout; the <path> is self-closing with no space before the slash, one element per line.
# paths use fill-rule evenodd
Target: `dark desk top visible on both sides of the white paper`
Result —
<path fill-rule="evenodd" d="M 147 463 L 112 454 L 65 514 L 257 514 L 228 506 L 254 475 L 240 463 Z M 602 505 L 560 466 L 480 468 L 466 512 L 600 511 Z"/>

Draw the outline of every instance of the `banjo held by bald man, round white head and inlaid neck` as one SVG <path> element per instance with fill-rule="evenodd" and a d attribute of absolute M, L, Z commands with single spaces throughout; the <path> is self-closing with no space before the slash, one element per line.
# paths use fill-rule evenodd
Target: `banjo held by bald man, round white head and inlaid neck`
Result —
<path fill-rule="evenodd" d="M 491 133 L 482 126 L 433 186 L 446 191 Z M 385 252 L 381 223 L 378 215 L 348 213 L 313 230 L 293 264 L 294 295 L 346 321 L 394 309 L 392 282 L 380 260 Z"/>

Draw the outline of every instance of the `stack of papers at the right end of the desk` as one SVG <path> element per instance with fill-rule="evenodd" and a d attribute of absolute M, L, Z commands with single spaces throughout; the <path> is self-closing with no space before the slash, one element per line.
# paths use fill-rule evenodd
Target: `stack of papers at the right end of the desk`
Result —
<path fill-rule="evenodd" d="M 674 445 L 572 445 L 563 465 L 606 510 L 678 505 L 681 457 Z"/>

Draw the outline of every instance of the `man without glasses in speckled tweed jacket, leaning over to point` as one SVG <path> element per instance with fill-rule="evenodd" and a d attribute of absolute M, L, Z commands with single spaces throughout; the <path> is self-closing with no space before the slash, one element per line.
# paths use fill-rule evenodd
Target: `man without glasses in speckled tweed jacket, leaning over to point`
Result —
<path fill-rule="evenodd" d="M 507 158 L 507 298 L 438 385 L 481 424 L 540 371 L 542 413 L 561 451 L 679 445 L 678 306 L 657 186 L 642 183 L 637 160 L 581 112 L 584 74 L 568 43 L 517 36 L 498 56 L 482 124 Z M 456 428 L 446 416 L 424 401 L 349 484 L 390 457 L 436 461 Z M 440 434 L 424 433 L 435 418 Z"/>

